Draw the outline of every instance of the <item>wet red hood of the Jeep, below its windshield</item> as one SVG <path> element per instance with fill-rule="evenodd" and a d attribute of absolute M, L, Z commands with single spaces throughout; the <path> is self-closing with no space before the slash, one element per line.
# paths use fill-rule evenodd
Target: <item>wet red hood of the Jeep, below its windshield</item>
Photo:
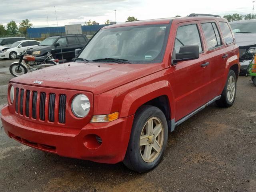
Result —
<path fill-rule="evenodd" d="M 100 67 L 99 67 L 100 66 Z M 90 91 L 97 95 L 163 69 L 161 64 L 65 63 L 13 78 L 34 86 Z M 34 81 L 42 81 L 36 84 Z"/>

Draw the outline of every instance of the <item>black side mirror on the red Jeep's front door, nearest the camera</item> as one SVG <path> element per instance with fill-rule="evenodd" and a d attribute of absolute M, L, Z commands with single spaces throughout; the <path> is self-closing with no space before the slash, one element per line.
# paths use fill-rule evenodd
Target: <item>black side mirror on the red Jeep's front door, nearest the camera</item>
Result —
<path fill-rule="evenodd" d="M 175 58 L 172 59 L 172 65 L 176 65 L 179 61 L 187 61 L 199 58 L 199 46 L 198 45 L 185 45 L 180 47 L 180 52 L 175 53 Z"/>

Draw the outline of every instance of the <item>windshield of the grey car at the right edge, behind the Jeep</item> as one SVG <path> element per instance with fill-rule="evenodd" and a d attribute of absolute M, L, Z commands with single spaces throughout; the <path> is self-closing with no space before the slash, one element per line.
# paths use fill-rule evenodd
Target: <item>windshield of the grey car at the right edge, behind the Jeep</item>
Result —
<path fill-rule="evenodd" d="M 256 33 L 256 22 L 230 23 L 234 33 Z"/>

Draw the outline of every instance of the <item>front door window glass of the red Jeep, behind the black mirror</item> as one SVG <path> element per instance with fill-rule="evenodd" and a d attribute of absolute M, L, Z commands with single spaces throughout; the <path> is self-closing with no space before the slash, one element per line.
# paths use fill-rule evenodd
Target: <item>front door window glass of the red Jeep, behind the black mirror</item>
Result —
<path fill-rule="evenodd" d="M 180 26 L 178 28 L 174 46 L 176 53 L 179 53 L 180 47 L 185 45 L 198 45 L 199 52 L 202 52 L 202 43 L 196 24 Z"/>

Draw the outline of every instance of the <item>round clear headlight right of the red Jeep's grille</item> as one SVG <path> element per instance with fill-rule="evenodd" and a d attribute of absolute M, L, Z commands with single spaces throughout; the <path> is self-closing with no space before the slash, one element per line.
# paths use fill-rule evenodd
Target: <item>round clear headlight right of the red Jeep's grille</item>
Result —
<path fill-rule="evenodd" d="M 84 94 L 74 97 L 71 104 L 72 112 L 77 117 L 85 117 L 90 111 L 90 101 Z"/>

